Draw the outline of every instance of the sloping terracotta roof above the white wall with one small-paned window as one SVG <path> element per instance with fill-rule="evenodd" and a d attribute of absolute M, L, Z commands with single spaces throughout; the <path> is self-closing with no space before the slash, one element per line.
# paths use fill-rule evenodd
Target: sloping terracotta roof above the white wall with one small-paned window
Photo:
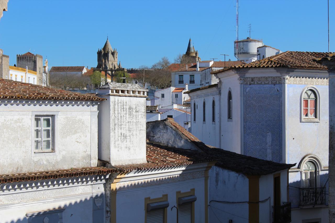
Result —
<path fill-rule="evenodd" d="M 0 79 L 0 99 L 102 101 L 94 94 L 55 89 L 36 84 Z"/>

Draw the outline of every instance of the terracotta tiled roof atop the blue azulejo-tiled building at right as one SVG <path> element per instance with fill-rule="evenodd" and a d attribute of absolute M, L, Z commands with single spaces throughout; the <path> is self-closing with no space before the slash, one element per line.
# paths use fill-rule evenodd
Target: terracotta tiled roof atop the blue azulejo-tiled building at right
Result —
<path fill-rule="evenodd" d="M 286 67 L 298 69 L 327 70 L 327 67 L 322 66 L 313 60 L 320 57 L 327 57 L 329 54 L 331 53 L 286 51 L 284 53 L 267 57 L 262 60 L 254 61 L 249 64 L 242 64 L 212 71 L 211 74 L 217 74 L 227 70 L 238 68 Z"/>

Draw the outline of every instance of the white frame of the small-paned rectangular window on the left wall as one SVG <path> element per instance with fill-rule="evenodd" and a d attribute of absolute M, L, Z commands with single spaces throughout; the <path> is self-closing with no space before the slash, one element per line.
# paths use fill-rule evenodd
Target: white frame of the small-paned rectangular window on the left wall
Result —
<path fill-rule="evenodd" d="M 51 117 L 51 150 L 35 150 L 35 117 Z M 41 123 L 42 125 L 42 123 Z M 42 134 L 42 133 L 41 133 Z M 58 155 L 58 112 L 34 111 L 31 116 L 31 156 L 55 156 Z M 43 139 L 42 139 L 43 140 Z"/>

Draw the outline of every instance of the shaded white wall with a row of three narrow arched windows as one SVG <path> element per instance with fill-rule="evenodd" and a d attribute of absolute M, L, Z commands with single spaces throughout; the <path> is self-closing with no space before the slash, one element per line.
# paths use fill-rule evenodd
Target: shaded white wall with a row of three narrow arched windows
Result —
<path fill-rule="evenodd" d="M 220 100 L 217 87 L 190 93 L 191 96 L 191 132 L 207 145 L 220 148 L 219 116 Z M 203 102 L 205 100 L 205 118 L 203 122 Z M 215 122 L 212 122 L 212 101 L 215 101 Z M 194 121 L 194 103 L 196 104 L 196 121 Z M 222 109 L 221 109 L 222 110 Z"/>

